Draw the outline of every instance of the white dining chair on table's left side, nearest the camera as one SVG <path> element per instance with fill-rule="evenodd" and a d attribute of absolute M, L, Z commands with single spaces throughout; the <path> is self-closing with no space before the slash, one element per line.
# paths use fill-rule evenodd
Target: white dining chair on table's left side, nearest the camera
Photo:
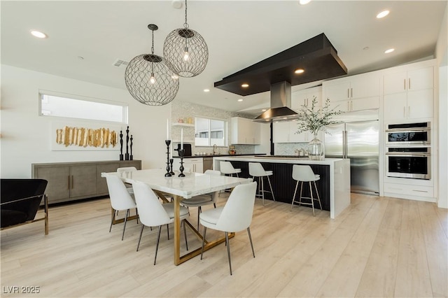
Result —
<path fill-rule="evenodd" d="M 157 260 L 157 252 L 159 248 L 160 232 L 162 225 L 168 225 L 174 222 L 174 204 L 166 203 L 161 204 L 158 197 L 155 195 L 151 187 L 142 182 L 135 182 L 132 184 L 134 187 L 135 200 L 137 202 L 137 208 L 139 210 L 139 216 L 141 221 L 141 231 L 139 237 L 139 243 L 137 244 L 137 251 L 139 251 L 141 234 L 145 226 L 159 227 L 157 244 L 155 246 L 154 264 Z M 188 218 L 188 209 L 180 206 L 180 220 Z M 183 234 L 185 236 L 185 244 L 188 250 L 186 224 L 183 222 Z"/>

